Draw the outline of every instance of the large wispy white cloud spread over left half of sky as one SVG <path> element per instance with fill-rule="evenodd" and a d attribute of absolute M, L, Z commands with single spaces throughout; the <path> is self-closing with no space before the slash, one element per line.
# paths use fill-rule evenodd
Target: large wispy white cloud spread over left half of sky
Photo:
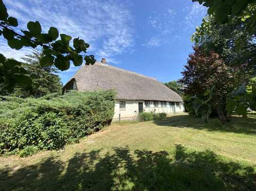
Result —
<path fill-rule="evenodd" d="M 36 20 L 41 23 L 43 32 L 54 26 L 59 33 L 83 38 L 91 45 L 88 53 L 96 55 L 97 59 L 107 57 L 114 61 L 115 55 L 134 45 L 133 17 L 124 1 L 8 0 L 5 3 L 9 15 L 17 17 L 20 29 L 26 30 L 26 23 Z M 0 52 L 19 59 L 30 49 L 10 49 L 0 37 Z"/>

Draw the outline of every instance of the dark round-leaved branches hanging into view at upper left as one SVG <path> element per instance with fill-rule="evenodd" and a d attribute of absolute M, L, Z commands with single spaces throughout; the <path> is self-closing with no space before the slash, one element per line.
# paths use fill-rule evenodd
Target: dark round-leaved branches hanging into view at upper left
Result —
<path fill-rule="evenodd" d="M 83 39 L 74 38 L 73 47 L 70 46 L 71 36 L 60 34 L 58 29 L 50 27 L 47 33 L 42 33 L 41 24 L 38 21 L 27 23 L 28 30 L 15 31 L 18 26 L 17 18 L 8 15 L 3 1 L 0 0 L 0 36 L 8 41 L 8 46 L 20 50 L 22 47 L 41 46 L 43 48 L 41 67 L 54 65 L 61 71 L 69 69 L 70 61 L 74 66 L 80 66 L 85 60 L 87 65 L 94 64 L 93 55 L 86 55 L 89 44 Z M 60 36 L 60 39 L 58 37 Z M 12 91 L 15 86 L 27 90 L 33 89 L 32 76 L 22 67 L 21 63 L 14 59 L 6 59 L 0 53 L 0 83 L 3 84 L 1 91 Z"/>

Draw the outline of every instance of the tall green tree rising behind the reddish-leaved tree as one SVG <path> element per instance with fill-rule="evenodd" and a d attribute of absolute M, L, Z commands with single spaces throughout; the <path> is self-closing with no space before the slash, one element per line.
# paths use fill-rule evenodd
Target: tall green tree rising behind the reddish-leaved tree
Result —
<path fill-rule="evenodd" d="M 243 23 L 237 17 L 230 23 L 218 24 L 213 16 L 204 18 L 207 27 L 201 27 L 192 35 L 195 45 L 206 52 L 218 53 L 226 65 L 233 72 L 240 73 L 240 77 L 248 79 L 256 74 L 256 41 L 255 35 L 244 31 Z M 236 48 L 236 40 L 243 37 L 246 46 Z"/>

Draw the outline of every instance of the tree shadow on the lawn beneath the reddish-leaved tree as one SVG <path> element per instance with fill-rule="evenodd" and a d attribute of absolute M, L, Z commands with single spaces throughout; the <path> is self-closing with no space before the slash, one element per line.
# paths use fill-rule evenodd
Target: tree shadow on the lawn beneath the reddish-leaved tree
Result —
<path fill-rule="evenodd" d="M 254 114 L 249 114 L 247 118 L 232 116 L 231 124 L 228 128 L 222 127 L 217 118 L 210 118 L 209 123 L 206 124 L 200 117 L 192 117 L 190 115 L 174 115 L 167 117 L 165 120 L 155 121 L 154 123 L 160 126 L 186 127 L 256 135 L 256 115 Z"/>

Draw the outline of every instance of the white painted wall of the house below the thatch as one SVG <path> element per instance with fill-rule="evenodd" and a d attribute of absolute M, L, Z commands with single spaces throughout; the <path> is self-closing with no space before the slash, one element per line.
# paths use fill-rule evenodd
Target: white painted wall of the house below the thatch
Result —
<path fill-rule="evenodd" d="M 119 101 L 125 101 L 125 109 L 120 109 Z M 139 105 L 138 105 L 139 102 L 143 103 L 144 112 L 150 112 L 155 110 L 156 113 L 166 113 L 166 114 L 173 113 L 172 106 L 170 106 L 169 102 L 167 101 L 166 101 L 166 107 L 161 107 L 160 101 L 158 101 L 158 107 L 154 106 L 154 101 L 150 101 L 150 107 L 146 107 L 144 100 L 116 99 L 114 120 L 119 118 L 119 114 L 121 115 L 122 119 L 135 118 L 139 113 Z M 177 106 L 175 103 L 175 113 L 181 113 L 184 111 L 185 109 L 184 109 L 183 103 L 180 103 L 180 106 Z"/>

